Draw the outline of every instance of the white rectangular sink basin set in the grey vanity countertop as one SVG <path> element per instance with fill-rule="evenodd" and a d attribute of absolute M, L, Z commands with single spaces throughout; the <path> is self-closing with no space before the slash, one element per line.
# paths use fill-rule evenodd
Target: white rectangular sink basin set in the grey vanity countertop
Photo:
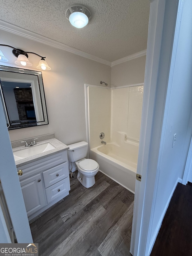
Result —
<path fill-rule="evenodd" d="M 50 143 L 45 143 L 41 145 L 35 145 L 31 146 L 19 151 L 13 152 L 14 159 L 15 161 L 32 156 L 32 155 L 37 155 L 43 152 L 46 152 L 48 150 L 55 149 L 54 146 L 52 146 Z"/>

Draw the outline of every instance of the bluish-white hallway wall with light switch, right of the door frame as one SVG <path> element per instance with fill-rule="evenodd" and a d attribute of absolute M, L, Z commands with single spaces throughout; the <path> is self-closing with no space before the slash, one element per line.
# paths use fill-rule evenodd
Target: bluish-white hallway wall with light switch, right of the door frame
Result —
<path fill-rule="evenodd" d="M 176 52 L 176 61 L 173 71 L 173 80 L 170 81 L 171 92 L 166 99 L 169 103 L 167 118 L 164 118 L 166 130 L 162 153 L 159 156 L 160 175 L 154 217 L 152 222 L 151 239 L 164 213 L 167 202 L 173 193 L 178 179 L 184 173 L 187 152 L 189 149 L 192 127 L 190 113 L 192 108 L 192 2 L 184 1 L 184 9 L 179 31 L 179 41 Z M 169 89 L 168 89 L 169 90 Z M 189 126 L 190 124 L 190 126 Z M 173 134 L 176 143 L 172 148 Z"/>

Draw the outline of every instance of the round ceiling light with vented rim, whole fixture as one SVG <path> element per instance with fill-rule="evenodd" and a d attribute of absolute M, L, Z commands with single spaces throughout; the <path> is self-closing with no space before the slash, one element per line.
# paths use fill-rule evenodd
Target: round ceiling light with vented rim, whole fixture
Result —
<path fill-rule="evenodd" d="M 71 25 L 80 29 L 87 25 L 91 20 L 91 12 L 89 9 L 80 4 L 71 5 L 65 12 L 67 20 L 70 21 Z"/>

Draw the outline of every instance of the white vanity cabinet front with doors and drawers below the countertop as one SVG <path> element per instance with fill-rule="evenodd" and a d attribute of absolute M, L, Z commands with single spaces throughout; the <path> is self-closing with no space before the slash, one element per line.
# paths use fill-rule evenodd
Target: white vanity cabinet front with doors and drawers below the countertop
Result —
<path fill-rule="evenodd" d="M 67 151 L 49 155 L 17 167 L 23 199 L 29 220 L 69 194 Z"/>

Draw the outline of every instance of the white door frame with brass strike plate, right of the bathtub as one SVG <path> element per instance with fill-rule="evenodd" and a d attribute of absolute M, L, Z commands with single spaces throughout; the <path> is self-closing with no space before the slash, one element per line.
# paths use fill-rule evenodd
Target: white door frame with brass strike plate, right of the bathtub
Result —
<path fill-rule="evenodd" d="M 178 2 L 150 0 L 150 20 L 147 45 L 145 89 L 140 132 L 133 227 L 130 252 L 134 256 L 148 256 L 153 245 L 150 232 L 159 178 L 159 157 L 163 141 L 163 121 L 170 59 Z M 182 2 L 182 0 L 180 1 Z M 166 24 L 166 26 L 165 26 Z M 167 29 L 168 28 L 168 29 Z M 154 238 L 154 237 L 153 237 Z"/>

